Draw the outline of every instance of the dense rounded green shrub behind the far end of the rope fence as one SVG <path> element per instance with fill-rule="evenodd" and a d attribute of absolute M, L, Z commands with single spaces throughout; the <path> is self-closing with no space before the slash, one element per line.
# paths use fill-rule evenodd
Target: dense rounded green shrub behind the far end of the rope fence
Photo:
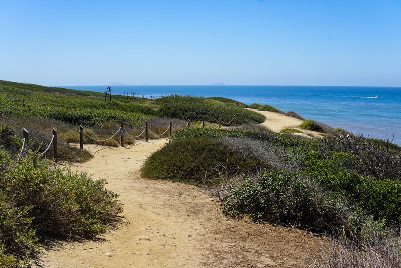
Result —
<path fill-rule="evenodd" d="M 203 97 L 170 95 L 155 100 L 161 108 L 159 115 L 191 121 L 208 121 L 216 123 L 230 122 L 236 115 L 237 124 L 261 123 L 265 117 L 261 114 L 242 109 L 229 103 L 211 103 Z"/>

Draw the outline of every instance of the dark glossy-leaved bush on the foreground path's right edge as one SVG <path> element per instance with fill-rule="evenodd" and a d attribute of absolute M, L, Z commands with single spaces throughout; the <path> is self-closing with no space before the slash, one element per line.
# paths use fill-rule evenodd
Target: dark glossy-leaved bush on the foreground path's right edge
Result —
<path fill-rule="evenodd" d="M 341 226 L 338 210 L 288 171 L 261 172 L 257 179 L 245 177 L 223 204 L 223 212 L 235 218 L 247 214 L 253 221 L 325 229 Z"/>

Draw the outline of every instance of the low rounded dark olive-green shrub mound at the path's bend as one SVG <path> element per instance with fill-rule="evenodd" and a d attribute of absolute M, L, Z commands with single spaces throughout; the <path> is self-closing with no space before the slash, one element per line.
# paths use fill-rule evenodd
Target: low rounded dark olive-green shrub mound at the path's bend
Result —
<path fill-rule="evenodd" d="M 188 138 L 169 142 L 152 153 L 141 174 L 151 179 L 207 185 L 213 184 L 216 177 L 240 174 L 262 165 L 211 138 Z"/>

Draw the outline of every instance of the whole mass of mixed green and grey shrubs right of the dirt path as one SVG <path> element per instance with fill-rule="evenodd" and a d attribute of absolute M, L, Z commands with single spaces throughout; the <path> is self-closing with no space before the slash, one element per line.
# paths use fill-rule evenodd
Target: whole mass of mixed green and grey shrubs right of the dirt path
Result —
<path fill-rule="evenodd" d="M 222 200 L 229 217 L 247 215 L 255 222 L 330 234 L 353 248 L 344 252 L 355 257 L 369 248 L 367 255 L 399 263 L 399 146 L 355 136 L 304 139 L 250 129 L 178 130 L 148 158 L 142 175 L 200 185 Z"/>

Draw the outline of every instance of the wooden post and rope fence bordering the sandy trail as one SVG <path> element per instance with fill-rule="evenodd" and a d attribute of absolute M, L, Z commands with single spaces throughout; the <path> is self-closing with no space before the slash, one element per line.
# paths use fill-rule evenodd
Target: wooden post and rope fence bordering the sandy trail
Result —
<path fill-rule="evenodd" d="M 222 122 L 222 120 L 219 118 L 219 121 L 217 121 L 216 122 L 216 124 L 219 124 L 219 128 L 221 128 L 221 125 L 222 124 L 225 124 L 225 125 L 228 125 L 228 124 L 230 124 L 231 122 L 234 122 L 234 126 L 236 126 L 236 116 L 234 115 L 234 117 L 233 117 L 233 119 L 230 121 L 230 122 L 227 122 L 227 123 L 225 123 L 225 122 Z M 185 127 L 191 127 L 191 121 L 188 119 L 188 123 L 186 124 L 186 126 Z M 185 128 L 184 127 L 184 128 Z M 202 120 L 202 125 L 200 125 L 199 126 L 199 128 L 204 128 L 205 127 L 205 120 Z M 153 133 L 155 136 L 162 136 L 162 135 L 164 135 L 165 133 L 167 133 L 167 131 L 170 131 L 170 133 L 169 133 L 169 135 L 171 136 L 171 134 L 172 134 L 172 122 L 170 122 L 170 125 L 167 127 L 167 129 L 163 132 L 163 133 L 161 133 L 161 134 L 156 134 L 156 133 L 154 133 L 154 132 L 152 132 L 152 131 L 150 131 L 151 133 Z M 91 136 L 89 136 L 89 135 L 87 135 L 85 132 L 84 132 L 84 127 L 82 126 L 82 125 L 79 125 L 79 148 L 82 150 L 83 149 L 83 143 L 84 143 L 84 135 L 87 137 L 87 138 L 89 138 L 89 139 L 91 139 L 91 140 L 94 140 L 94 141 L 97 141 L 97 142 L 105 142 L 105 141 L 108 141 L 108 140 L 110 140 L 110 139 L 112 139 L 113 137 L 115 137 L 118 133 L 120 133 L 120 137 L 121 137 L 121 146 L 124 146 L 124 136 L 125 136 L 125 134 L 127 134 L 128 136 L 130 136 L 130 137 L 132 137 L 132 138 L 139 138 L 140 136 L 142 136 L 143 135 L 143 133 L 145 133 L 145 141 L 146 142 L 148 142 L 148 139 L 149 139 L 149 126 L 148 126 L 148 123 L 147 122 L 145 122 L 145 128 L 144 128 L 144 130 L 142 131 L 142 133 L 141 134 L 139 134 L 139 135 L 137 135 L 137 136 L 132 136 L 131 134 L 129 134 L 128 132 L 125 132 L 125 129 L 124 129 L 124 126 L 123 126 L 123 124 L 121 124 L 121 127 L 116 131 L 116 133 L 114 133 L 114 135 L 112 135 L 110 138 L 107 138 L 107 139 L 105 139 L 105 140 L 98 140 L 98 139 L 95 139 L 95 138 L 93 138 L 93 137 L 91 137 Z M 57 163 L 57 131 L 53 128 L 53 130 L 52 130 L 52 139 L 51 139 L 51 141 L 49 142 L 49 145 L 47 146 L 47 148 L 46 148 L 46 150 L 44 151 L 44 152 L 42 152 L 42 153 L 39 153 L 40 155 L 43 155 L 43 154 L 45 154 L 48 150 L 49 150 L 49 148 L 50 148 L 50 146 L 53 144 L 53 158 L 54 158 L 54 160 L 55 160 L 55 162 Z M 23 128 L 23 144 L 22 144 L 22 147 L 21 147 L 21 151 L 20 151 L 20 154 L 24 151 L 24 150 L 26 150 L 27 148 L 28 148 L 28 145 L 29 145 L 29 140 L 30 140 L 30 138 L 29 138 L 29 132 L 28 132 L 28 130 L 26 130 L 25 128 Z"/>

